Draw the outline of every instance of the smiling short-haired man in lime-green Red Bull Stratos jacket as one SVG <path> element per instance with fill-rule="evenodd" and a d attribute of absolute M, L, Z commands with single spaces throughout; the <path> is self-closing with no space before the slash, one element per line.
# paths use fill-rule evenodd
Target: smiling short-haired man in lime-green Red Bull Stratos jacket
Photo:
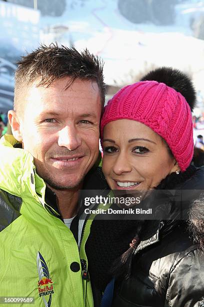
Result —
<path fill-rule="evenodd" d="M 93 305 L 84 251 L 89 226 L 73 234 L 68 227 L 98 157 L 104 95 L 102 65 L 87 50 L 41 46 L 18 62 L 8 112 L 14 137 L 0 144 L 0 296 L 6 299 Z"/>

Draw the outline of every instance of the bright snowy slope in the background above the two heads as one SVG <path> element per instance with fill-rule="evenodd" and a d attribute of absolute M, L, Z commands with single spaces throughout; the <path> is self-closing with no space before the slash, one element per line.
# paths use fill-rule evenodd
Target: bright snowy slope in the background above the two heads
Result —
<path fill-rule="evenodd" d="M 117 10 L 116 0 L 87 0 L 84 6 L 67 8 L 60 18 L 41 18 L 41 41 L 53 40 L 43 34 L 48 25 L 65 25 L 69 31 L 59 42 L 73 42 L 103 58 L 105 81 L 122 85 L 132 82 L 144 67 L 173 66 L 192 74 L 204 70 L 204 41 L 191 37 L 189 20 L 204 11 L 203 2 L 189 1 L 176 7 L 176 23 L 161 27 L 132 24 Z M 196 78 L 195 78 L 196 79 Z M 200 87 L 200 86 L 199 86 Z"/>

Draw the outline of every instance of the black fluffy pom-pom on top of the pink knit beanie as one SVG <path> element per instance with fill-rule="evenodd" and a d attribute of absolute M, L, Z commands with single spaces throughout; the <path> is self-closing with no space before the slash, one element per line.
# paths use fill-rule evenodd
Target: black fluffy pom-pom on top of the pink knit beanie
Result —
<path fill-rule="evenodd" d="M 196 102 L 194 86 L 190 78 L 178 69 L 172 69 L 171 67 L 157 68 L 143 76 L 140 81 L 157 81 L 172 87 L 185 97 L 191 111 L 193 110 Z"/>

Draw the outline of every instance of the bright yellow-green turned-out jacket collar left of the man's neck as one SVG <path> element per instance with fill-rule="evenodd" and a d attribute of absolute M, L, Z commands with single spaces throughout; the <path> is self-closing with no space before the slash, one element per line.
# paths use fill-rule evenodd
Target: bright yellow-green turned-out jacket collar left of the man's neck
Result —
<path fill-rule="evenodd" d="M 16 144 L 12 135 L 0 139 L 0 189 L 20 198 L 34 197 L 44 207 L 46 185 L 36 174 L 32 155 L 14 148 Z"/>

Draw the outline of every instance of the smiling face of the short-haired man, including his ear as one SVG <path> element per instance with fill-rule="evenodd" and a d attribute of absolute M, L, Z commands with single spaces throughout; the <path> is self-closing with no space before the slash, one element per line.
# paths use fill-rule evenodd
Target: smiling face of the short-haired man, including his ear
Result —
<path fill-rule="evenodd" d="M 96 82 L 69 77 L 48 88 L 35 84 L 19 119 L 22 144 L 37 174 L 54 189 L 78 187 L 98 156 L 100 92 Z"/>

